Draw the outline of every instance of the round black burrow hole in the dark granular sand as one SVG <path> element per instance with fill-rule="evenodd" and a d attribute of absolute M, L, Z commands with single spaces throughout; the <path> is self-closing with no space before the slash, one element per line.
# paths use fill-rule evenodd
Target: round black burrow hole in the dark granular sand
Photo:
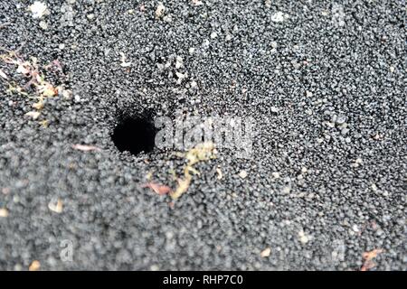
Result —
<path fill-rule="evenodd" d="M 155 137 L 156 128 L 148 117 L 124 117 L 112 134 L 113 143 L 120 152 L 134 155 L 153 151 Z"/>

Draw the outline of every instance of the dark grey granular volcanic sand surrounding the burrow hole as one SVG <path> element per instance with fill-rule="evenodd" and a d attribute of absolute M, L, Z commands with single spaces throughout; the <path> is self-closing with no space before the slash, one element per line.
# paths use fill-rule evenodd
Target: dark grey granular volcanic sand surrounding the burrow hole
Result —
<path fill-rule="evenodd" d="M 33 120 L 0 78 L 0 269 L 358 270 L 382 249 L 372 270 L 406 270 L 402 1 L 345 1 L 343 18 L 325 1 L 202 2 L 156 17 L 153 2 L 46 1 L 34 19 L 32 1 L 0 1 L 2 53 L 58 60 L 41 70 L 68 91 Z M 16 68 L 0 61 L 23 86 Z M 185 159 L 120 152 L 112 134 L 177 110 L 253 117 L 256 136 L 250 159 L 196 164 L 172 201 L 142 187 L 175 189 Z"/>

